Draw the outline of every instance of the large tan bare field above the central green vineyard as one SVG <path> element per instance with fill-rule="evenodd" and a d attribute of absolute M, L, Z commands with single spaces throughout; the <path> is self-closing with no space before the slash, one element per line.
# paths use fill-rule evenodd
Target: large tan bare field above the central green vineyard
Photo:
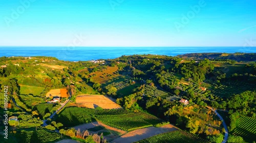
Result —
<path fill-rule="evenodd" d="M 79 107 L 87 108 L 96 108 L 98 106 L 103 109 L 121 108 L 114 99 L 104 95 L 79 95 L 76 97 L 76 104 Z"/>

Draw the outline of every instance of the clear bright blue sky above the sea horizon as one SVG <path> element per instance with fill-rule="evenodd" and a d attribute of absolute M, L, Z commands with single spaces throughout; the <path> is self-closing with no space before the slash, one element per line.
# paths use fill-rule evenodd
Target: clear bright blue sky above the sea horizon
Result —
<path fill-rule="evenodd" d="M 256 1 L 0 1 L 0 46 L 69 45 L 256 46 Z"/>

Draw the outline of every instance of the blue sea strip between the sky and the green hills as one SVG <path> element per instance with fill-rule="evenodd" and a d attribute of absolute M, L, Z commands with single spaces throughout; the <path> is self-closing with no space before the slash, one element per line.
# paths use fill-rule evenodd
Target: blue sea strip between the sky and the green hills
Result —
<path fill-rule="evenodd" d="M 0 57 L 53 56 L 59 60 L 72 62 L 115 59 L 122 55 L 134 54 L 176 56 L 203 52 L 255 53 L 256 47 L 0 47 Z"/>

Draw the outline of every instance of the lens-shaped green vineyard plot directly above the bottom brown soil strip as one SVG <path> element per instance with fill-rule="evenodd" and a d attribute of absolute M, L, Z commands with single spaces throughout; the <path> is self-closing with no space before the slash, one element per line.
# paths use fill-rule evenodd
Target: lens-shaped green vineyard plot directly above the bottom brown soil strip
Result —
<path fill-rule="evenodd" d="M 150 127 L 162 122 L 155 116 L 148 115 L 144 112 L 126 115 L 98 116 L 97 120 L 104 124 L 128 131 L 136 128 Z"/>

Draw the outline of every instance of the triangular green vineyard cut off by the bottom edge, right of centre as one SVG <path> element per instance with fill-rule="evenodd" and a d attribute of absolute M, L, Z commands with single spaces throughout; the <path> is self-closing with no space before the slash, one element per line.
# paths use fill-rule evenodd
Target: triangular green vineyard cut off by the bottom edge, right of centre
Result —
<path fill-rule="evenodd" d="M 210 142 L 206 139 L 200 138 L 193 134 L 187 133 L 182 130 L 176 130 L 172 132 L 158 134 L 140 141 L 136 141 L 136 143 L 204 143 Z"/>

